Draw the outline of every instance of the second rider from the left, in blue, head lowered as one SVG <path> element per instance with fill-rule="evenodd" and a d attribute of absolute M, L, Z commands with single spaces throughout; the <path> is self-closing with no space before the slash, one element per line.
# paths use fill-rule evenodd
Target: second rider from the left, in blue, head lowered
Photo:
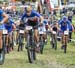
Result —
<path fill-rule="evenodd" d="M 14 21 L 12 19 L 8 19 L 7 23 L 5 23 L 5 28 L 8 31 L 8 35 L 7 35 L 7 53 L 9 53 L 9 46 L 8 46 L 8 38 L 10 40 L 10 50 L 12 50 L 12 31 L 14 28 L 16 28 Z"/>

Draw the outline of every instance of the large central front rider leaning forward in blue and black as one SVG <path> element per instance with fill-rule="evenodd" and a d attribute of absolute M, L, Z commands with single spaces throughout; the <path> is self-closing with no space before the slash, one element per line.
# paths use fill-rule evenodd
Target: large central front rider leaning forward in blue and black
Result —
<path fill-rule="evenodd" d="M 31 6 L 28 6 L 25 9 L 25 12 L 21 18 L 21 21 L 23 21 L 24 18 L 31 18 L 31 19 L 28 19 L 27 25 L 35 27 L 34 36 L 37 42 L 37 47 L 39 47 L 38 26 L 37 25 L 38 25 L 38 18 L 40 20 L 40 24 L 43 23 L 43 17 L 38 12 L 34 11 Z"/>

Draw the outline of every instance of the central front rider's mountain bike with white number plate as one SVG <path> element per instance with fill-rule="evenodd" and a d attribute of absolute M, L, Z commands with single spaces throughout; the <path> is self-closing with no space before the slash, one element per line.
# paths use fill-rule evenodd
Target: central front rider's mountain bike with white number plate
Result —
<path fill-rule="evenodd" d="M 31 26 L 26 26 L 27 30 L 27 54 L 29 63 L 33 63 L 36 60 L 36 53 L 35 53 L 35 40 L 34 40 L 34 29 Z"/>

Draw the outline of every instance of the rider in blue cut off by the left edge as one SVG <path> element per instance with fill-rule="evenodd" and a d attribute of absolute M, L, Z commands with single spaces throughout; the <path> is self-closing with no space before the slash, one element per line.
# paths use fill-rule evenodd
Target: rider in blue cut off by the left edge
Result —
<path fill-rule="evenodd" d="M 0 8 L 0 53 L 2 52 L 2 30 L 5 29 L 3 23 L 5 23 L 7 19 L 7 14 Z"/>

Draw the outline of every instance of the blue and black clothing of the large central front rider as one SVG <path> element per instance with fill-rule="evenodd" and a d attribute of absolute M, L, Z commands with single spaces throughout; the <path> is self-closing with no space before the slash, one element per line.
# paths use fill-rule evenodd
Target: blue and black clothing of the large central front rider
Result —
<path fill-rule="evenodd" d="M 32 11 L 31 11 L 31 14 L 30 14 L 29 16 L 28 16 L 28 15 L 26 14 L 26 12 L 25 12 L 25 13 L 23 14 L 21 20 L 23 21 L 24 18 L 33 18 L 33 17 L 35 17 L 35 16 L 36 16 L 36 17 L 40 17 L 41 15 L 40 15 L 38 12 L 32 10 Z M 38 21 L 31 21 L 31 20 L 28 20 L 28 21 L 27 21 L 27 25 L 33 26 L 33 27 L 35 27 L 35 28 L 37 29 Z"/>

